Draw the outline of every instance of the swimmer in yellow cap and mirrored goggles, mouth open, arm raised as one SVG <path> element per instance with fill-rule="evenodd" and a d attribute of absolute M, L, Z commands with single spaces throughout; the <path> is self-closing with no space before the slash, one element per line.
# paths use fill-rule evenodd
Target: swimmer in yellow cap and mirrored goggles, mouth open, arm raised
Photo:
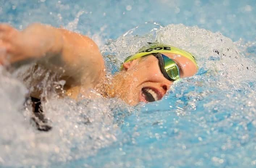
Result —
<path fill-rule="evenodd" d="M 31 60 L 61 75 L 66 96 L 76 99 L 81 90 L 95 89 L 102 97 L 118 97 L 130 105 L 160 100 L 173 82 L 198 69 L 190 53 L 152 43 L 129 56 L 109 79 L 100 50 L 89 37 L 49 25 L 32 24 L 19 31 L 0 24 L 0 64 Z M 41 92 L 30 96 L 40 99 Z"/>

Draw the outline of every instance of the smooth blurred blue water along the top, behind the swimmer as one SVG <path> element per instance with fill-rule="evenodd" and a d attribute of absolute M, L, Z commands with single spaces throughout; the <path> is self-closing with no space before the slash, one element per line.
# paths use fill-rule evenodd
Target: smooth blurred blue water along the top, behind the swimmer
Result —
<path fill-rule="evenodd" d="M 43 1 L 43 2 L 41 2 Z M 108 0 L 108 1 L 16 1 L 1 0 L 1 22 L 17 28 L 42 22 L 66 26 L 79 11 L 84 11 L 77 30 L 92 34 L 102 31 L 104 38 L 115 39 L 144 22 L 162 25 L 184 24 L 221 32 L 237 41 L 255 40 L 255 0 Z"/>

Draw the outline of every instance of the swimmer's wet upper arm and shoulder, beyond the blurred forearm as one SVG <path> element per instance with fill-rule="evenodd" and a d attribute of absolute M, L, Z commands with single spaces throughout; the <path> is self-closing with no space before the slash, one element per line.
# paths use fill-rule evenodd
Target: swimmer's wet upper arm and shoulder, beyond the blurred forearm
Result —
<path fill-rule="evenodd" d="M 54 29 L 61 34 L 62 44 L 61 50 L 56 45 L 54 51 L 58 53 L 51 57 L 50 62 L 64 69 L 66 85 L 96 85 L 105 73 L 104 60 L 96 43 L 87 36 L 66 29 Z"/>

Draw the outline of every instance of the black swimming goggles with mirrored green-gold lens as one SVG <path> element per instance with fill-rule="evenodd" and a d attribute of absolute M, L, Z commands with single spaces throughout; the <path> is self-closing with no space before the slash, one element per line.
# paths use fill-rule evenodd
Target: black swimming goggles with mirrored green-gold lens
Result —
<path fill-rule="evenodd" d="M 152 53 L 159 62 L 159 67 L 164 77 L 170 81 L 180 79 L 180 70 L 178 65 L 168 56 L 161 53 Z"/>

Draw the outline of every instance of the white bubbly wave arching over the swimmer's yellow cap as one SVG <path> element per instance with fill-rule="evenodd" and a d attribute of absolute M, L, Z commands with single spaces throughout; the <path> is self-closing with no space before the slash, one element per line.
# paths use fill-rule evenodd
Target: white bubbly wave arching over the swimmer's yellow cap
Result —
<path fill-rule="evenodd" d="M 143 26 L 151 28 L 148 31 L 150 33 L 137 33 L 143 30 Z M 105 50 L 116 54 L 118 63 L 121 64 L 127 56 L 147 45 L 147 42 L 166 43 L 195 55 L 198 66 L 202 67 L 200 71 L 207 71 L 208 76 L 218 78 L 223 89 L 238 89 L 246 81 L 255 80 L 256 70 L 252 60 L 245 58 L 237 45 L 221 33 L 182 24 L 162 27 L 146 23 L 143 26 L 137 26 L 116 41 L 110 41 Z M 223 85 L 225 82 L 227 83 Z"/>

